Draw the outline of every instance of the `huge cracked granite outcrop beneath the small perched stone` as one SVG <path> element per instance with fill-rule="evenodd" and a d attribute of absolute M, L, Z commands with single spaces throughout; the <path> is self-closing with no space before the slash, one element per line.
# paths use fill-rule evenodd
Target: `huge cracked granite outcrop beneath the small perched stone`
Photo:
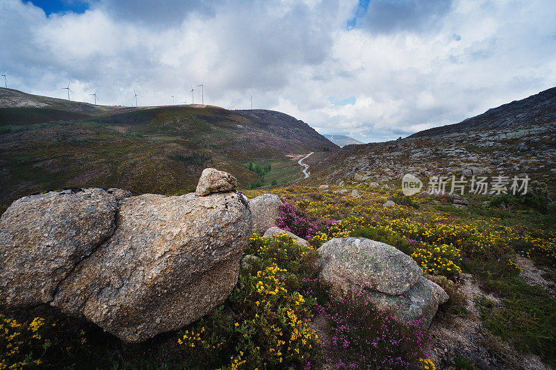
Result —
<path fill-rule="evenodd" d="M 20 199 L 0 219 L 0 305 L 49 303 L 125 342 L 199 319 L 236 285 L 252 230 L 242 194 L 204 194 Z"/>

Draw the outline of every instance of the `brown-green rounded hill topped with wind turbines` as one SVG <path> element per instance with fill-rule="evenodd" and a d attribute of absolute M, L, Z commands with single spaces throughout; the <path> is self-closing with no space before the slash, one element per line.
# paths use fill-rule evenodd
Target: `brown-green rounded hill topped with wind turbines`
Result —
<path fill-rule="evenodd" d="M 0 205 L 64 187 L 189 192 L 205 167 L 234 174 L 241 187 L 282 183 L 300 177 L 297 156 L 337 149 L 270 110 L 94 106 L 0 89 Z M 272 169 L 261 178 L 247 162 Z"/>

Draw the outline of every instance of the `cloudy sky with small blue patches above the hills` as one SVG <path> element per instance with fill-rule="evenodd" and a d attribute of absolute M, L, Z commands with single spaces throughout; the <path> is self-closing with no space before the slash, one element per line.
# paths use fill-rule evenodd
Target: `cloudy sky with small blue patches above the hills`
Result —
<path fill-rule="evenodd" d="M 556 86 L 554 0 L 0 0 L 8 87 L 279 110 L 363 142 Z M 3 82 L 3 81 L 2 81 Z M 200 102 L 194 92 L 195 103 Z"/>

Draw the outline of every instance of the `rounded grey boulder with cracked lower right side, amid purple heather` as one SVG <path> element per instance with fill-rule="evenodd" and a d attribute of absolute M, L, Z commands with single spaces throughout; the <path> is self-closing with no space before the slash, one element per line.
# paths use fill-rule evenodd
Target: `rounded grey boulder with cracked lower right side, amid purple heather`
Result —
<path fill-rule="evenodd" d="M 329 240 L 318 249 L 320 278 L 336 296 L 364 292 L 377 307 L 401 321 L 424 319 L 430 324 L 443 289 L 423 277 L 416 262 L 388 244 L 357 237 Z"/>

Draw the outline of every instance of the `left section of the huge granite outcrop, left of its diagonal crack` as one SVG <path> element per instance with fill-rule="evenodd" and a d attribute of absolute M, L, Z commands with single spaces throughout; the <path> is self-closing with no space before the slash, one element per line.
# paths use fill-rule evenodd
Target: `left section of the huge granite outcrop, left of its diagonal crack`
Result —
<path fill-rule="evenodd" d="M 116 197 L 102 189 L 25 196 L 0 219 L 0 305 L 52 300 L 58 284 L 115 230 Z"/>

